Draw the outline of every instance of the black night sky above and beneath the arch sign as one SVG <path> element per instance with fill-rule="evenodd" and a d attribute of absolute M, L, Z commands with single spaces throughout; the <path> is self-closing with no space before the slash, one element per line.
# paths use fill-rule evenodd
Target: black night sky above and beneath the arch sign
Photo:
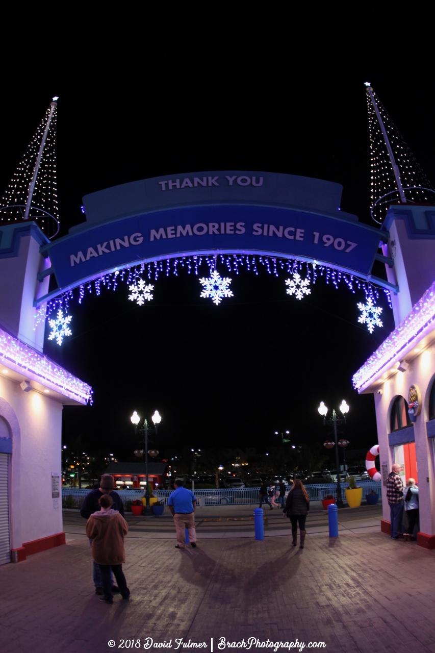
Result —
<path fill-rule="evenodd" d="M 191 170 L 338 182 L 342 210 L 374 224 L 367 80 L 435 180 L 433 57 L 417 17 L 406 16 L 396 48 L 400 21 L 373 26 L 370 5 L 341 22 L 319 5 L 315 16 L 259 7 L 166 3 L 103 18 L 72 14 L 56 23 L 54 42 L 54 24 L 35 12 L 24 44 L 2 45 L 1 189 L 59 95 L 61 235 L 82 221 L 86 193 Z M 40 47 L 27 38 L 35 32 Z M 370 335 L 357 323 L 362 291 L 319 281 L 299 302 L 285 295 L 285 274 L 230 276 L 234 297 L 218 307 L 199 298 L 199 281 L 186 272 L 161 276 L 144 307 L 127 300 L 125 284 L 71 302 L 72 338 L 44 351 L 92 385 L 94 404 L 64 409 L 65 443 L 81 434 L 84 451 L 129 458 L 129 416 L 137 409 L 149 419 L 156 408 L 159 449 L 265 449 L 286 429 L 297 444 L 321 443 L 317 406 L 337 409 L 342 399 L 351 407 L 349 449 L 376 443 L 373 398 L 357 395 L 351 375 L 394 327 L 383 291 L 385 326 Z"/>

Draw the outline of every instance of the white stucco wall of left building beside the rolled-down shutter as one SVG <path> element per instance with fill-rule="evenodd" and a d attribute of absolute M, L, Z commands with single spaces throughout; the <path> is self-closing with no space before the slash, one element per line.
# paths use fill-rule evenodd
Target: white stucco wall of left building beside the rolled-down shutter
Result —
<path fill-rule="evenodd" d="M 24 392 L 0 370 L 0 415 L 10 425 L 10 546 L 62 532 L 62 509 L 54 508 L 52 471 L 61 473 L 62 405 Z"/>

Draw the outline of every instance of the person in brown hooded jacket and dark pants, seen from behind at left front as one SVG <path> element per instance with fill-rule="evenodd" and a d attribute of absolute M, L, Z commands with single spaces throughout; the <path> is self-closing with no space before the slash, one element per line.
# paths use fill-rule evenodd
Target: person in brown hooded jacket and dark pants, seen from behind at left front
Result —
<path fill-rule="evenodd" d="M 128 601 L 130 590 L 127 587 L 122 564 L 125 562 L 124 536 L 129 527 L 118 510 L 112 508 L 113 499 L 110 494 L 99 498 L 100 510 L 88 519 L 86 535 L 91 540 L 92 557 L 99 566 L 103 579 L 104 596 L 100 601 L 113 603 L 112 573 L 114 573 L 121 596 Z"/>

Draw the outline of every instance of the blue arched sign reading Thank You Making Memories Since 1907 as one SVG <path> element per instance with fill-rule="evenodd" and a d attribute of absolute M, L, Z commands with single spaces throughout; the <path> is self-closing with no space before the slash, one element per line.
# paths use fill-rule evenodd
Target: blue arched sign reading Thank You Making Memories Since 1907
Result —
<path fill-rule="evenodd" d="M 56 306 L 75 287 L 84 293 L 92 280 L 125 268 L 152 263 L 163 270 L 159 262 L 226 255 L 244 257 L 248 266 L 250 256 L 324 266 L 398 291 L 371 276 L 375 258 L 387 261 L 377 253 L 387 232 L 341 211 L 341 196 L 338 183 L 246 170 L 176 174 L 91 193 L 83 199 L 86 222 L 41 248 L 51 267 L 39 278 L 54 274 L 58 288 L 35 306 Z"/>

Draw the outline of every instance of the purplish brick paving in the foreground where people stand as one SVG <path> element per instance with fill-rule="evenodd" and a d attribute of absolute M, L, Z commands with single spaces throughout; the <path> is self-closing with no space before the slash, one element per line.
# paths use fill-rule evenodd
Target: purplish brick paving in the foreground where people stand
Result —
<path fill-rule="evenodd" d="M 1 652 L 100 653 L 146 637 L 175 650 L 182 637 L 210 653 L 213 637 L 216 653 L 217 638 L 257 637 L 324 642 L 329 653 L 435 653 L 435 551 L 379 529 L 308 535 L 304 550 L 286 536 L 206 537 L 181 551 L 173 539 L 129 537 L 125 549 L 132 598 L 114 605 L 94 594 L 83 535 L 1 566 Z"/>

